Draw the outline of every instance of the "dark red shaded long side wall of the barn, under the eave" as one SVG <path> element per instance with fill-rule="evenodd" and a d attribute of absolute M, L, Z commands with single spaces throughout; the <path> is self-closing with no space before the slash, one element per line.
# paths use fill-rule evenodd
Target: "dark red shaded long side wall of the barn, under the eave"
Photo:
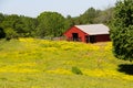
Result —
<path fill-rule="evenodd" d="M 106 42 L 110 40 L 110 34 L 95 35 L 95 42 Z"/>

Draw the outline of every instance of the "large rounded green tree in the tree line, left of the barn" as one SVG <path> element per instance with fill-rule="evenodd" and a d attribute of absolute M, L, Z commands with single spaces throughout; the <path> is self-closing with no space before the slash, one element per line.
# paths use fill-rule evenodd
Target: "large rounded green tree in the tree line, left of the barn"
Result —
<path fill-rule="evenodd" d="M 58 12 L 42 12 L 38 16 L 40 36 L 60 36 L 65 28 L 65 19 Z"/>

